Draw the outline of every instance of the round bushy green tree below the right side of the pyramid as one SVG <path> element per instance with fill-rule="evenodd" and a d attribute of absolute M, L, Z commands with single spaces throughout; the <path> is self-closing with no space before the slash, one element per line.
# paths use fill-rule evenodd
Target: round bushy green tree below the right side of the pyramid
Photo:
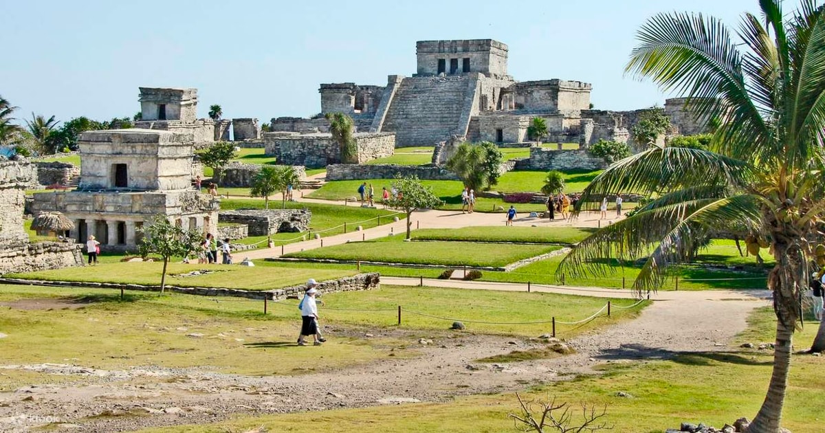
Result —
<path fill-rule="evenodd" d="M 459 176 L 464 186 L 481 191 L 498 183 L 501 165 L 502 151 L 495 144 L 484 141 L 460 144 L 446 167 Z"/>

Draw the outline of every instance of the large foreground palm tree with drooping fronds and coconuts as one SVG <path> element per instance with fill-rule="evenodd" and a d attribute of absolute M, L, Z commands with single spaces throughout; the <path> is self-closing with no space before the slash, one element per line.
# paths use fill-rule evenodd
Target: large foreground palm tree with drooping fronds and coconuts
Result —
<path fill-rule="evenodd" d="M 634 288 L 662 285 L 714 228 L 742 224 L 770 245 L 776 338 L 765 401 L 748 433 L 780 430 L 810 240 L 825 211 L 825 14 L 804 0 L 785 19 L 780 0 L 743 16 L 734 41 L 716 18 L 668 13 L 639 30 L 626 70 L 688 96 L 700 118 L 721 120 L 709 148 L 652 147 L 610 166 L 577 204 L 634 191 L 653 201 L 581 242 L 559 272 L 602 275 L 596 259 L 647 257 Z M 763 25 L 764 22 L 764 25 Z"/>

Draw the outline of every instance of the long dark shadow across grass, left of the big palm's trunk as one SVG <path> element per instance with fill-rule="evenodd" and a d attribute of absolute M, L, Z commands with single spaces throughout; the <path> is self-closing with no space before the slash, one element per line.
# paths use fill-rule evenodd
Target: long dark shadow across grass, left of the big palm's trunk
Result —
<path fill-rule="evenodd" d="M 753 358 L 747 352 L 731 351 L 668 351 L 659 347 L 640 344 L 627 344 L 615 349 L 601 351 L 595 356 L 598 360 L 672 360 L 678 364 L 695 366 L 712 366 L 715 362 L 737 365 L 771 365 L 771 361 Z"/>

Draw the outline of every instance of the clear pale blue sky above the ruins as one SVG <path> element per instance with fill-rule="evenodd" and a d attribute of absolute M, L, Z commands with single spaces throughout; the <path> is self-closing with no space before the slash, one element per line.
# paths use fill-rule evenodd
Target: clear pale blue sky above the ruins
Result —
<path fill-rule="evenodd" d="M 412 75 L 417 40 L 495 39 L 516 80 L 591 82 L 596 108 L 629 110 L 665 98 L 623 74 L 649 16 L 703 12 L 738 26 L 757 10 L 756 0 L 0 0 L 0 95 L 18 119 L 108 120 L 139 111 L 139 86 L 197 87 L 200 117 L 219 104 L 226 118 L 268 121 L 318 113 L 322 82 Z"/>

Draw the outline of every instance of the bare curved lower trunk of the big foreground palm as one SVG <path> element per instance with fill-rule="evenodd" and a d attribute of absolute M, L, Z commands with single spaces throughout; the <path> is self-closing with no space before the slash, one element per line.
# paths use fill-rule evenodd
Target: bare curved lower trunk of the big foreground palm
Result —
<path fill-rule="evenodd" d="M 794 328 L 787 327 L 781 320 L 777 320 L 771 383 L 768 385 L 765 402 L 762 402 L 757 417 L 753 418 L 753 422 L 747 427 L 747 433 L 778 433 L 780 431 L 785 389 L 788 387 L 793 337 Z"/>

